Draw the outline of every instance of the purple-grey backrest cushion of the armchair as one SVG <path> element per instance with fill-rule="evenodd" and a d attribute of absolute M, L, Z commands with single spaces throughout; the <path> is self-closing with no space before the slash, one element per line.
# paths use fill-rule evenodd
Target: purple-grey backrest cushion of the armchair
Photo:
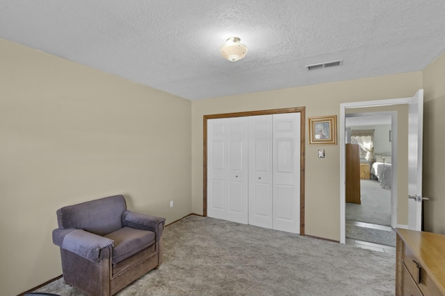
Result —
<path fill-rule="evenodd" d="M 122 195 L 100 198 L 57 210 L 60 229 L 83 229 L 104 236 L 122 228 L 122 213 L 127 210 Z"/>

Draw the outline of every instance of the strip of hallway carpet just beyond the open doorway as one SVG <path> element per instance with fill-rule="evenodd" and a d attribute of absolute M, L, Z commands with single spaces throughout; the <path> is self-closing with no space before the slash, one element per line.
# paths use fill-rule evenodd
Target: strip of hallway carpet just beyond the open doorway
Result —
<path fill-rule="evenodd" d="M 396 246 L 396 232 L 349 225 L 346 223 L 346 237 L 359 241 L 368 241 L 380 245 Z"/>

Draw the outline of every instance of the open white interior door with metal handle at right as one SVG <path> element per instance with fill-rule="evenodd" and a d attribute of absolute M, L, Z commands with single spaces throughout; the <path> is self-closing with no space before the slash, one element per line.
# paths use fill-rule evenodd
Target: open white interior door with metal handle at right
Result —
<path fill-rule="evenodd" d="M 422 227 L 423 89 L 408 106 L 408 228 Z"/>

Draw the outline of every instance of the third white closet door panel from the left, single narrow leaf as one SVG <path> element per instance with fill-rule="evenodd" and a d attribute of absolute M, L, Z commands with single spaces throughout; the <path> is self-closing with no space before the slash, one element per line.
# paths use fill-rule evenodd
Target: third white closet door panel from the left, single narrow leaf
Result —
<path fill-rule="evenodd" d="M 249 116 L 249 224 L 273 228 L 273 116 Z"/>

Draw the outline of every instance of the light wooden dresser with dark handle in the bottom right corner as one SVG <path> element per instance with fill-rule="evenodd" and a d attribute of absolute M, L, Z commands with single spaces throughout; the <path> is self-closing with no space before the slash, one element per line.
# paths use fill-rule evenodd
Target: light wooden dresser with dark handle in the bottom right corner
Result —
<path fill-rule="evenodd" d="M 396 295 L 445 295 L 445 235 L 397 229 Z"/>

